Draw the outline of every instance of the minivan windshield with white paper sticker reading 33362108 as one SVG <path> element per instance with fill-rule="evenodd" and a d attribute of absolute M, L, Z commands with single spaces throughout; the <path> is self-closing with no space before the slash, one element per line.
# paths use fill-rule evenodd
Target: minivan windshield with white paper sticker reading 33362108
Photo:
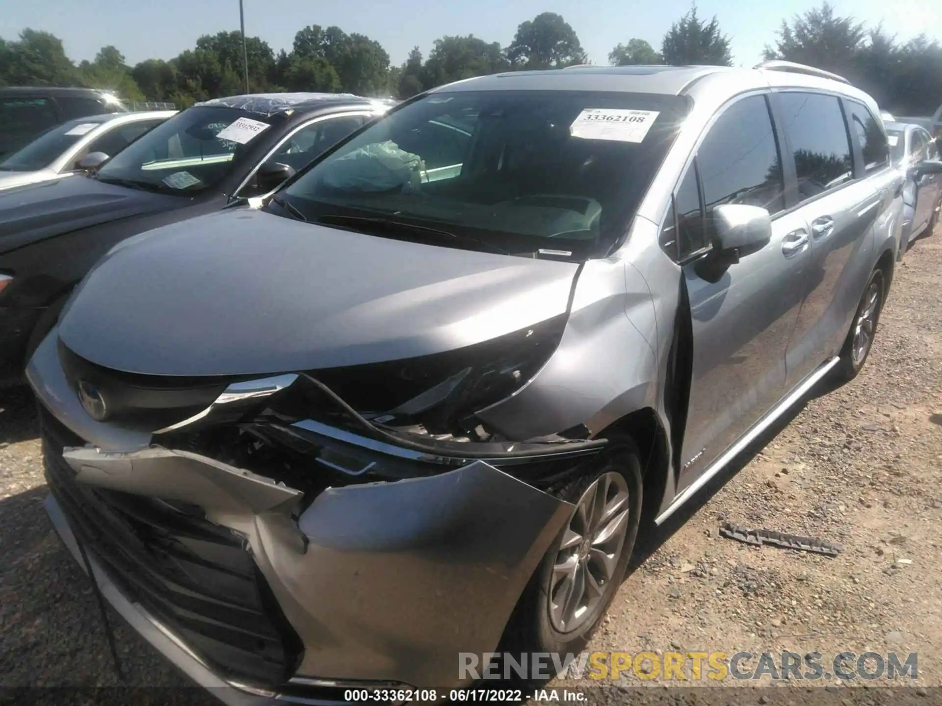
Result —
<path fill-rule="evenodd" d="M 589 257 L 625 233 L 689 109 L 642 93 L 432 93 L 313 164 L 268 209 L 446 247 Z"/>

